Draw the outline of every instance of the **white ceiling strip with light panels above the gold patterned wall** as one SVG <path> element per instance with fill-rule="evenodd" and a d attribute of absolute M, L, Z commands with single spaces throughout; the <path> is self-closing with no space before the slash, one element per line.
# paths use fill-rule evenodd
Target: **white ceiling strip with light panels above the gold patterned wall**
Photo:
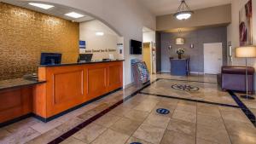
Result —
<path fill-rule="evenodd" d="M 40 8 L 37 8 L 37 7 L 33 7 L 33 6 L 29 5 L 28 2 L 24 2 L 24 1 L 0 0 L 0 2 L 1 1 L 3 3 L 13 4 L 13 5 L 22 7 L 22 8 L 31 9 L 31 10 L 38 11 L 38 12 L 41 12 L 41 13 L 44 13 L 44 14 L 54 15 L 56 17 L 60 17 L 62 19 L 66 19 L 66 20 L 73 20 L 73 21 L 76 21 L 76 22 L 84 22 L 84 21 L 88 21 L 88 20 L 94 20 L 93 17 L 89 16 L 88 14 L 85 14 L 82 11 L 79 11 L 78 9 L 73 9 L 73 8 L 69 8 L 69 7 L 65 7 L 65 6 L 61 6 L 61 5 L 52 4 L 52 5 L 55 6 L 54 8 L 40 9 Z M 79 14 L 83 14 L 84 17 L 79 18 L 79 19 L 74 19 L 74 18 L 71 18 L 71 17 L 68 17 L 68 16 L 64 15 L 64 14 L 67 14 L 67 13 L 70 13 L 70 12 L 77 12 Z"/>

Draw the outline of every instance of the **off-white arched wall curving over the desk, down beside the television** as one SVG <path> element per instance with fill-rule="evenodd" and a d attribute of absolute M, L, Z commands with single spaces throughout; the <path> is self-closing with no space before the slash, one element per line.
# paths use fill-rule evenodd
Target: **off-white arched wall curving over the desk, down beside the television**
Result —
<path fill-rule="evenodd" d="M 30 1 L 30 0 L 26 0 Z M 155 17 L 137 0 L 34 0 L 65 5 L 87 12 L 108 24 L 124 37 L 124 84 L 131 84 L 131 59 L 142 55 L 129 54 L 130 39 L 143 41 L 143 26 L 155 30 Z"/>

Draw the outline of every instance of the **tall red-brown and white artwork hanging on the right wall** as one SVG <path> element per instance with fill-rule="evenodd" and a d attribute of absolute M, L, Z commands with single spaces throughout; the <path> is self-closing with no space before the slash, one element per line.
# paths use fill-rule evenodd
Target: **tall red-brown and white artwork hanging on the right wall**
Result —
<path fill-rule="evenodd" d="M 253 5 L 249 0 L 239 12 L 240 45 L 253 44 Z"/>

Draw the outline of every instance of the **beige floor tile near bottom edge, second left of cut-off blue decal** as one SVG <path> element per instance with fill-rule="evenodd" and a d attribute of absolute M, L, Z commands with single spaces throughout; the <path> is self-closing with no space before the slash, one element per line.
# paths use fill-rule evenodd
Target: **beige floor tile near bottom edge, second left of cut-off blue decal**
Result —
<path fill-rule="evenodd" d="M 84 143 L 90 143 L 94 141 L 97 136 L 101 135 L 107 128 L 104 128 L 102 125 L 98 124 L 89 124 L 83 130 L 72 135 L 73 137 L 83 141 Z"/>

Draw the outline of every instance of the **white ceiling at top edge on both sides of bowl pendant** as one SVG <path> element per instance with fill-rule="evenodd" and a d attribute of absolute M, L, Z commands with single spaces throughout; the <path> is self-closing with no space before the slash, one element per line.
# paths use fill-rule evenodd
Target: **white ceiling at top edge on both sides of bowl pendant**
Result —
<path fill-rule="evenodd" d="M 173 14 L 181 0 L 138 0 L 154 15 Z M 191 10 L 231 3 L 231 0 L 186 0 Z"/>

